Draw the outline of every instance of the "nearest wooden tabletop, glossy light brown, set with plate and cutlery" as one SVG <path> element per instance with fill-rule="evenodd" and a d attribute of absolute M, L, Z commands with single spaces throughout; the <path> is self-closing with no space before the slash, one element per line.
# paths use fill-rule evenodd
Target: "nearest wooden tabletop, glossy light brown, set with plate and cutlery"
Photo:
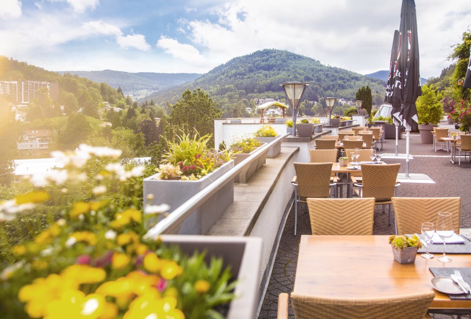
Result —
<path fill-rule="evenodd" d="M 451 263 L 417 256 L 415 263 L 394 260 L 389 236 L 302 235 L 293 292 L 339 298 L 389 297 L 433 289 L 429 267 L 471 267 L 471 255 L 452 255 Z M 434 290 L 431 309 L 471 308 L 471 300 L 451 300 Z"/>

